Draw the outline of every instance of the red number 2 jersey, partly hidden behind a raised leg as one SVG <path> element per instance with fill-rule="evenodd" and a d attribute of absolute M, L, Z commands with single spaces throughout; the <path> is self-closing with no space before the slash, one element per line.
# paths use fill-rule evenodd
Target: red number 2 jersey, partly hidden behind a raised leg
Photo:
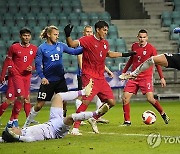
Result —
<path fill-rule="evenodd" d="M 125 73 L 128 68 L 132 65 L 131 71 L 134 71 L 140 64 L 149 59 L 152 56 L 157 55 L 157 51 L 155 47 L 153 47 L 150 43 L 147 43 L 144 47 L 139 46 L 139 43 L 136 42 L 131 47 L 132 51 L 135 51 L 137 54 L 131 56 L 129 61 L 127 62 L 125 68 L 123 69 L 123 73 Z M 160 78 L 163 77 L 162 69 L 160 66 L 156 66 Z M 153 74 L 153 66 L 149 67 L 147 70 L 141 72 L 138 77 L 151 77 Z"/>

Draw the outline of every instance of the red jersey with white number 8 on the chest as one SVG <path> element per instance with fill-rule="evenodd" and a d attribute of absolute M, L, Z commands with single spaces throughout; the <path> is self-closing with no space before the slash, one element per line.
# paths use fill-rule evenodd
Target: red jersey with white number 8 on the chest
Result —
<path fill-rule="evenodd" d="M 36 57 L 37 47 L 33 44 L 25 47 L 20 43 L 10 46 L 7 57 L 10 60 L 9 65 L 12 66 L 10 73 L 28 75 L 31 74 L 27 71 L 28 66 L 32 66 L 33 60 Z M 12 71 L 12 72 L 11 72 Z"/>

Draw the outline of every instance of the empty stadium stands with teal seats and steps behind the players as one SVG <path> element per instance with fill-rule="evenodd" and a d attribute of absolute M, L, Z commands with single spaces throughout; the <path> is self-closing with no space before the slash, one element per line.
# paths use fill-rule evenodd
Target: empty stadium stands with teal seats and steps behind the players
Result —
<path fill-rule="evenodd" d="M 32 29 L 31 43 L 39 45 L 40 31 L 47 25 L 56 25 L 60 30 L 60 41 L 65 42 L 64 26 L 75 27 L 72 38 L 82 36 L 85 25 L 94 25 L 97 20 L 109 23 L 107 39 L 111 50 L 125 52 L 136 41 L 139 29 L 149 32 L 149 42 L 159 53 L 180 51 L 179 34 L 172 33 L 180 25 L 180 2 L 178 0 L 1 0 L 0 2 L 0 67 L 8 47 L 19 40 L 19 29 Z M 106 59 L 106 65 L 114 72 L 120 72 L 127 58 Z M 67 73 L 75 73 L 76 56 L 64 54 L 63 62 Z M 160 88 L 155 72 L 155 95 L 161 98 L 179 98 L 179 72 L 163 69 L 167 87 Z M 112 87 L 113 88 L 113 87 Z M 122 86 L 116 86 L 115 95 L 119 99 Z M 134 99 L 143 99 L 138 93 Z M 160 97 L 159 97 L 160 99 Z"/>

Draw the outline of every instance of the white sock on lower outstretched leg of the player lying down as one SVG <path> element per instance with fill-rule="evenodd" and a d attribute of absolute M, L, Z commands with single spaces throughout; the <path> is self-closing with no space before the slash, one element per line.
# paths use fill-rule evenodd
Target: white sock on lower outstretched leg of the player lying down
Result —
<path fill-rule="evenodd" d="M 74 121 L 78 120 L 87 120 L 93 116 L 93 112 L 80 112 L 80 113 L 73 113 L 72 118 Z"/>

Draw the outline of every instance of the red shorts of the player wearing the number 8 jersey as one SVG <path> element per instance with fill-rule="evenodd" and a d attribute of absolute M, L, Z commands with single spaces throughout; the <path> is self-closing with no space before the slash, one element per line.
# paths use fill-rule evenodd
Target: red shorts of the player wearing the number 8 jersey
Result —
<path fill-rule="evenodd" d="M 8 76 L 8 89 L 6 98 L 14 100 L 15 97 L 23 96 L 28 98 L 30 94 L 31 74 L 28 76 Z"/>

